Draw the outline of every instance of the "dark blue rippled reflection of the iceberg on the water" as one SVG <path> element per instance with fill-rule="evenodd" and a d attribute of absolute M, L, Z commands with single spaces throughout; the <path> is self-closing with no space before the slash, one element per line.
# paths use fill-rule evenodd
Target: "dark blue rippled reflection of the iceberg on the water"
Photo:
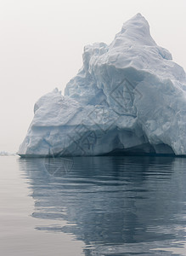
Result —
<path fill-rule="evenodd" d="M 57 175 L 56 163 L 64 166 L 64 160 L 51 169 L 46 161 L 20 159 L 33 189 L 33 217 L 65 219 L 69 225 L 38 230 L 74 234 L 87 245 L 85 255 L 160 255 L 151 249 L 182 246 L 186 159 L 76 157 L 70 172 Z"/>

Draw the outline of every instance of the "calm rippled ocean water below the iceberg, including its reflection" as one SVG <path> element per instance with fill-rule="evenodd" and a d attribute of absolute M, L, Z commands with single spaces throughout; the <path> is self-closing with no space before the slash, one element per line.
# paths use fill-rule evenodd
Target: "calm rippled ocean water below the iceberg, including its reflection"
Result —
<path fill-rule="evenodd" d="M 0 255 L 186 255 L 186 159 L 0 157 Z"/>

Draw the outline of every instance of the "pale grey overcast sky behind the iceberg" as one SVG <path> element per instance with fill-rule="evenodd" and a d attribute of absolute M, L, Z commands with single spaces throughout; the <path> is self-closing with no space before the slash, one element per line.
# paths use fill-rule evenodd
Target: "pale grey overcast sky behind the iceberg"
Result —
<path fill-rule="evenodd" d="M 155 42 L 186 70 L 185 0 L 1 0 L 0 151 L 15 152 L 37 99 L 82 66 L 84 45 L 110 44 L 138 12 Z"/>

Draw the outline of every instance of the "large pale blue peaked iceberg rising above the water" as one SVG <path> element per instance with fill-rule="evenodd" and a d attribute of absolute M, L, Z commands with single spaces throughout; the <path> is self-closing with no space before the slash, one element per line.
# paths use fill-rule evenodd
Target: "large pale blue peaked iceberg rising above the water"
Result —
<path fill-rule="evenodd" d="M 38 100 L 19 154 L 186 154 L 185 90 L 183 68 L 135 15 L 110 45 L 85 47 L 65 96 Z"/>

